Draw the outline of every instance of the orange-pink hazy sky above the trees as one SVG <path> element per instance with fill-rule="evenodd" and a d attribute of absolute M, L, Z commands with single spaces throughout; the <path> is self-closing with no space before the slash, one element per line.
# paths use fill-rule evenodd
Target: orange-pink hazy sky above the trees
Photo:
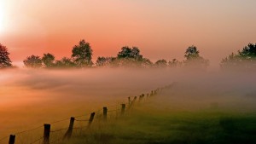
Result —
<path fill-rule="evenodd" d="M 218 66 L 256 43 L 255 0 L 0 0 L 0 43 L 14 63 L 70 56 L 85 39 L 98 56 L 137 46 L 144 57 L 184 60 L 190 45 Z"/>

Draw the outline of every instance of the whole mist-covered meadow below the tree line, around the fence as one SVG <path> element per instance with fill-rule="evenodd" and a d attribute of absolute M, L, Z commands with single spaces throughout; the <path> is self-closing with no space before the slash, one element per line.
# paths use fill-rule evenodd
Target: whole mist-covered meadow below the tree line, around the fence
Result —
<path fill-rule="evenodd" d="M 67 128 L 71 116 L 119 107 L 128 96 L 176 82 L 172 89 L 137 103 L 125 116 L 96 120 L 90 130 L 73 130 L 59 143 L 255 143 L 255 79 L 252 73 L 171 70 L 85 69 L 1 72 L 0 135 L 32 143 L 52 130 Z M 75 127 L 85 123 L 75 122 Z M 86 122 L 87 124 L 87 122 Z M 39 127 L 39 128 L 38 128 Z M 31 130 L 20 133 L 23 130 Z M 65 130 L 50 135 L 61 138 Z M 0 141 L 7 143 L 8 138 Z M 37 141 L 38 143 L 42 141 Z"/>

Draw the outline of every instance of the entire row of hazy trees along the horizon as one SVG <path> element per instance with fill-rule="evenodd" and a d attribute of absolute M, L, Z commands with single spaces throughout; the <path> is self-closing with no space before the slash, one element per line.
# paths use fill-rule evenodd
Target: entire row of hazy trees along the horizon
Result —
<path fill-rule="evenodd" d="M 185 60 L 179 61 L 165 59 L 152 62 L 143 57 L 140 49 L 137 47 L 125 46 L 120 49 L 116 56 L 98 57 L 96 62 L 92 61 L 93 50 L 90 43 L 84 39 L 78 45 L 73 46 L 71 57 L 63 57 L 61 60 L 55 60 L 55 55 L 44 54 L 27 56 L 23 60 L 24 66 L 28 68 L 84 68 L 84 67 L 181 67 L 190 66 L 197 69 L 206 69 L 209 66 L 209 60 L 200 55 L 200 51 L 194 46 L 189 46 L 184 52 Z M 12 67 L 12 61 L 9 59 L 9 52 L 6 46 L 0 43 L 0 68 Z M 256 70 L 256 43 L 249 43 L 246 47 L 236 53 L 225 57 L 220 62 L 222 69 L 249 69 Z"/>

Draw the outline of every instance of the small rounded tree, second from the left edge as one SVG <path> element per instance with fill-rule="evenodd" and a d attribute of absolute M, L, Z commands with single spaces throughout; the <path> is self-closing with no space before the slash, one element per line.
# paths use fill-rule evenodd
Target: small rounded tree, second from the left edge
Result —
<path fill-rule="evenodd" d="M 42 60 L 38 55 L 31 55 L 26 57 L 26 60 L 23 60 L 23 63 L 26 67 L 30 68 L 42 67 Z"/>

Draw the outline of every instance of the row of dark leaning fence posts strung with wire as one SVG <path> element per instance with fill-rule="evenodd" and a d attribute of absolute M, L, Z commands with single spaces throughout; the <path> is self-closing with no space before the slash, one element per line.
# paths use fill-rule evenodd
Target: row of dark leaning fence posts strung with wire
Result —
<path fill-rule="evenodd" d="M 43 129 L 43 135 L 40 137 L 35 138 L 32 142 L 24 142 L 24 143 L 29 143 L 29 144 L 34 144 L 34 143 L 43 143 L 43 144 L 52 144 L 52 143 L 57 143 L 60 141 L 65 141 L 68 140 L 72 137 L 73 135 L 73 130 L 79 130 L 79 129 L 90 129 L 90 125 L 97 119 L 99 121 L 102 121 L 103 123 L 108 122 L 108 115 L 110 113 L 115 112 L 115 117 L 119 118 L 125 115 L 125 112 L 128 112 L 131 110 L 132 107 L 135 106 L 135 103 L 142 103 L 143 100 L 146 98 L 149 98 L 151 96 L 157 95 L 161 90 L 163 89 L 169 89 L 172 87 L 173 84 L 169 84 L 165 87 L 159 88 L 159 89 L 154 89 L 151 90 L 147 95 L 139 95 L 139 96 L 134 96 L 134 97 L 128 97 L 128 102 L 127 103 L 121 103 L 120 105 L 114 105 L 114 106 L 109 106 L 109 107 L 102 107 L 101 110 L 98 110 L 96 112 L 91 112 L 88 114 L 84 115 L 79 115 L 71 118 L 64 118 L 61 120 L 57 120 L 55 122 L 49 123 L 49 124 L 44 124 L 38 127 L 35 127 L 30 130 L 24 130 L 20 131 L 18 133 L 12 134 L 12 135 L 7 135 L 4 136 L 3 138 L 0 139 L 0 144 L 3 143 L 3 141 L 7 142 L 9 138 L 9 144 L 15 144 L 15 138 L 16 135 L 24 134 L 27 132 L 30 132 L 32 130 L 38 130 L 38 129 Z M 137 100 L 138 97 L 138 100 Z M 114 107 L 114 108 L 113 108 Z M 90 117 L 89 117 L 90 116 Z M 82 117 L 89 117 L 85 119 L 81 119 Z M 58 130 L 51 130 L 52 124 L 57 124 L 61 123 L 64 121 L 69 120 L 69 125 L 67 128 L 62 128 Z M 83 123 L 86 124 L 84 126 L 79 126 L 79 127 L 74 127 L 74 123 Z M 56 133 L 61 133 L 62 135 L 55 135 Z M 51 136 L 52 135 L 52 136 Z M 54 140 L 50 140 L 51 137 L 55 137 Z M 22 142 L 21 142 L 22 143 Z"/>

